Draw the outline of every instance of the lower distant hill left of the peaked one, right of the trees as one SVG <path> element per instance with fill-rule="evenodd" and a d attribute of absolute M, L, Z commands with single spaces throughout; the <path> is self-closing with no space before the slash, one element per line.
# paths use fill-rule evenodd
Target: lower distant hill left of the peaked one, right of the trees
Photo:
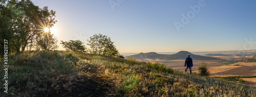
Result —
<path fill-rule="evenodd" d="M 134 57 L 135 59 L 144 59 L 144 58 L 155 58 L 155 57 L 161 57 L 161 56 L 165 56 L 167 54 L 158 54 L 156 52 L 148 52 L 148 53 L 139 53 L 139 54 L 135 54 L 135 55 L 130 55 L 130 56 L 126 56 L 125 58 L 128 57 Z"/>

